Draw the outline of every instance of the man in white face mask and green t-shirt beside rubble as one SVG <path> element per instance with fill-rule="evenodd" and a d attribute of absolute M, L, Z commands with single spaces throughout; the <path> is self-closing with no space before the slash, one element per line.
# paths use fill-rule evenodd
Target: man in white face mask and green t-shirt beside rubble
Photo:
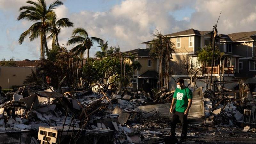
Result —
<path fill-rule="evenodd" d="M 179 121 L 182 124 L 182 133 L 181 133 L 181 141 L 185 141 L 187 136 L 187 116 L 189 108 L 192 104 L 192 92 L 189 88 L 184 85 L 184 80 L 179 79 L 177 81 L 177 88 L 174 92 L 172 105 L 170 108 L 171 112 L 171 136 L 175 136 L 175 128 L 176 124 Z M 173 109 L 174 104 L 176 103 L 175 108 Z"/>

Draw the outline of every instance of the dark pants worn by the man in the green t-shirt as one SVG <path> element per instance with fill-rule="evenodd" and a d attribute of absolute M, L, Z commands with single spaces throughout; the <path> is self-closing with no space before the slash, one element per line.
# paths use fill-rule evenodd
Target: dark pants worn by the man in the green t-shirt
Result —
<path fill-rule="evenodd" d="M 173 110 L 173 113 L 171 114 L 172 118 L 171 118 L 171 135 L 175 136 L 175 129 L 176 129 L 176 124 L 179 121 L 180 118 L 180 122 L 182 124 L 182 133 L 181 133 L 181 137 L 185 138 L 187 136 L 187 116 L 184 115 L 184 113 L 181 112 L 177 112 L 175 110 Z"/>

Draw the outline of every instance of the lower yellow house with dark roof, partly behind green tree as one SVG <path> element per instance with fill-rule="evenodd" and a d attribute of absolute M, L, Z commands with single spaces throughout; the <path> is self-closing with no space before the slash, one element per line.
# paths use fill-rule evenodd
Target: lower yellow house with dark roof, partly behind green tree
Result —
<path fill-rule="evenodd" d="M 126 52 L 125 58 L 127 60 L 130 57 L 134 58 L 134 61 L 138 61 L 141 64 L 140 70 L 134 71 L 134 77 L 131 78 L 132 87 L 141 89 L 142 84 L 149 83 L 151 88 L 157 87 L 158 82 L 158 59 L 150 56 L 149 49 L 134 49 Z"/>

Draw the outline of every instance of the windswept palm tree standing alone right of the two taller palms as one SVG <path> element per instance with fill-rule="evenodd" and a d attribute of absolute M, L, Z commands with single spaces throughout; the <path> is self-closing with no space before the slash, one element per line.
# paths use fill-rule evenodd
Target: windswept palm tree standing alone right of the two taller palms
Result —
<path fill-rule="evenodd" d="M 103 43 L 103 40 L 97 37 L 89 37 L 87 31 L 84 28 L 75 28 L 72 32 L 72 35 L 67 45 L 78 44 L 72 48 L 72 51 L 77 55 L 80 55 L 81 58 L 84 57 L 84 53 L 87 49 L 87 59 L 89 58 L 90 48 L 93 46 L 93 41 L 97 43 Z M 83 66 L 83 64 L 82 64 Z"/>

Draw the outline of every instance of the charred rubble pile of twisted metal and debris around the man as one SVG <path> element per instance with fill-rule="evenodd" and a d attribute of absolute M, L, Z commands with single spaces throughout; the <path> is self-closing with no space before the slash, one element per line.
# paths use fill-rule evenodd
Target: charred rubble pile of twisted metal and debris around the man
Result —
<path fill-rule="evenodd" d="M 35 144 L 44 140 L 48 129 L 61 133 L 60 142 L 67 139 L 62 134 L 65 132 L 75 143 L 78 138 L 91 143 L 88 140 L 94 134 L 105 135 L 115 144 L 170 142 L 173 90 L 161 89 L 152 97 L 152 92 L 103 90 L 99 84 L 81 91 L 68 89 L 58 92 L 52 87 L 24 86 L 1 96 L 0 132 L 28 130 L 32 132 L 31 143 Z M 203 92 L 200 87 L 193 90 L 188 121 L 191 140 L 227 130 L 255 132 L 255 96 L 246 85 L 243 91 L 233 94 Z M 207 132 L 200 133 L 201 130 Z M 176 133 L 180 137 L 181 131 Z M 37 134 L 42 135 L 42 140 Z"/>

